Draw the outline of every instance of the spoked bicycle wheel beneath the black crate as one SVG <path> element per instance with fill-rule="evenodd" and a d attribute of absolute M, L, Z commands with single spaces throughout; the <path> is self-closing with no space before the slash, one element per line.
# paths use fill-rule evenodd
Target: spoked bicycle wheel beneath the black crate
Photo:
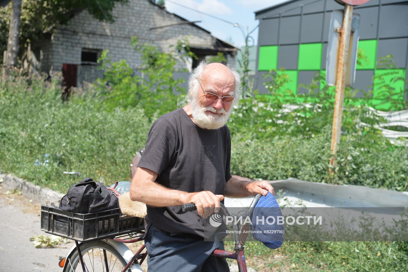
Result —
<path fill-rule="evenodd" d="M 121 272 L 127 264 L 118 250 L 104 241 L 81 243 L 80 250 L 85 264 L 85 271 Z M 65 263 L 64 272 L 82 272 L 78 250 L 75 250 Z M 131 270 L 127 271 L 130 272 Z"/>

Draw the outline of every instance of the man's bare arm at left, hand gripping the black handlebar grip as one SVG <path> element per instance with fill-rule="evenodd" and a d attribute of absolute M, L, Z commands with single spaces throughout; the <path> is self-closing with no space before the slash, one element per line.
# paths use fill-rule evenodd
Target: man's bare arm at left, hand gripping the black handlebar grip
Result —
<path fill-rule="evenodd" d="M 215 195 L 209 191 L 187 193 L 179 190 L 169 189 L 155 183 L 158 174 L 150 169 L 137 167 L 130 187 L 130 198 L 132 201 L 140 201 L 147 205 L 166 207 L 194 203 L 198 214 L 206 218 L 212 214 L 214 208 L 220 207 L 222 195 Z M 204 209 L 210 207 L 213 209 Z"/>

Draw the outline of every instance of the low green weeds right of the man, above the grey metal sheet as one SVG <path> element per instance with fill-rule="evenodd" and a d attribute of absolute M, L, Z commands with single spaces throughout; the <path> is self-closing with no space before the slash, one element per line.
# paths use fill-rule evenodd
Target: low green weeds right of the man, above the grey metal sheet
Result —
<path fill-rule="evenodd" d="M 233 138 L 231 171 L 267 180 L 299 178 L 333 184 L 365 185 L 406 191 L 408 148 L 391 145 L 381 134 L 341 138 L 334 175 L 328 173 L 331 127 L 310 138 L 275 136 L 271 139 Z"/>

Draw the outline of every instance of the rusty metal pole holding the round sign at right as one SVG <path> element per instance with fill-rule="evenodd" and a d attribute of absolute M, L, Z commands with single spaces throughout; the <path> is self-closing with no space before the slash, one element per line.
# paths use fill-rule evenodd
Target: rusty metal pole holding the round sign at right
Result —
<path fill-rule="evenodd" d="M 330 158 L 330 165 L 332 166 L 329 170 L 330 174 L 334 173 L 334 169 L 336 167 L 335 154 L 337 151 L 337 144 L 340 143 L 341 118 L 343 116 L 344 88 L 346 85 L 348 47 L 350 45 L 352 16 L 353 6 L 346 4 L 344 7 L 343 26 L 340 30 L 339 57 L 337 59 L 336 97 L 333 114 L 332 140 L 330 146 L 333 156 Z"/>

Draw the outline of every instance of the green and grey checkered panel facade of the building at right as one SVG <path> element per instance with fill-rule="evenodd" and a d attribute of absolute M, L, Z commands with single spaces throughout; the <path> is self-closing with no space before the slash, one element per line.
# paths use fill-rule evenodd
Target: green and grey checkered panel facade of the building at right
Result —
<path fill-rule="evenodd" d="M 292 0 L 255 12 L 259 20 L 255 88 L 266 92 L 263 75 L 284 68 L 290 76 L 285 87 L 294 94 L 306 92 L 299 84 L 308 85 L 317 72 L 325 72 L 330 18 L 335 10 L 344 10 L 344 6 L 335 0 Z M 371 99 L 375 102 L 378 89 L 373 76 L 392 72 L 408 80 L 408 1 L 370 0 L 354 7 L 353 13 L 360 15 L 358 47 L 366 56 L 357 65 L 353 87 L 373 90 Z M 387 55 L 393 56 L 395 69 L 385 71 L 376 66 L 377 60 Z M 391 78 L 386 76 L 385 80 L 401 90 L 398 99 L 407 99 L 404 82 Z M 359 92 L 356 97 L 363 96 Z"/>

